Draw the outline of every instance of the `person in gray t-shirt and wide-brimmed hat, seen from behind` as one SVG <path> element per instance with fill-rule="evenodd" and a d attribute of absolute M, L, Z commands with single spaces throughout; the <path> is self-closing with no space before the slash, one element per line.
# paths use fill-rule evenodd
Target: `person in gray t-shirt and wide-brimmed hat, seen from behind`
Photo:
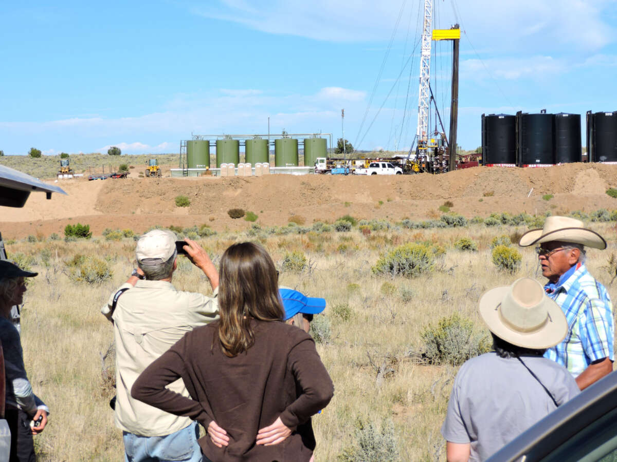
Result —
<path fill-rule="evenodd" d="M 441 428 L 447 460 L 485 460 L 579 393 L 565 367 L 544 358 L 568 332 L 560 307 L 531 278 L 482 294 L 495 351 L 466 361 Z"/>

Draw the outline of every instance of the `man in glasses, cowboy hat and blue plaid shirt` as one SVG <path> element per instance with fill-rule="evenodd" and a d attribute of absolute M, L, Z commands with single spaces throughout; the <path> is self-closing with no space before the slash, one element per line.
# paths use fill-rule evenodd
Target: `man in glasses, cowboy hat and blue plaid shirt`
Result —
<path fill-rule="evenodd" d="M 546 357 L 564 365 L 585 389 L 613 370 L 613 306 L 606 288 L 589 274 L 585 247 L 607 241 L 569 217 L 547 217 L 544 228 L 524 233 L 520 246 L 536 245 L 544 286 L 568 320 L 568 334 Z"/>

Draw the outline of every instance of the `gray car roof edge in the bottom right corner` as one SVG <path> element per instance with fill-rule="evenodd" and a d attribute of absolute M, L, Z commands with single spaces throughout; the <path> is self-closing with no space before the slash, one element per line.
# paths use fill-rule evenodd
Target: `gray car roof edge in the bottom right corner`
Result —
<path fill-rule="evenodd" d="M 486 462 L 540 460 L 558 445 L 617 407 L 617 371 L 598 380 L 573 399 L 505 445 Z"/>

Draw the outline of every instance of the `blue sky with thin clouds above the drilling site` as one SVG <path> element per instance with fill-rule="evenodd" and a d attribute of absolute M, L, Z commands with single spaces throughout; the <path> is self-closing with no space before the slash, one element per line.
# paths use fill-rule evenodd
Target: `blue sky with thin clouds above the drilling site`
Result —
<path fill-rule="evenodd" d="M 341 108 L 354 147 L 408 148 L 420 3 L 2 2 L 0 149 L 178 152 L 192 132 L 265 133 L 268 116 L 272 133 L 336 139 Z M 481 144 L 482 113 L 617 110 L 616 0 L 434 4 L 434 28 L 462 28 L 463 148 Z M 451 45 L 433 45 L 447 127 Z"/>

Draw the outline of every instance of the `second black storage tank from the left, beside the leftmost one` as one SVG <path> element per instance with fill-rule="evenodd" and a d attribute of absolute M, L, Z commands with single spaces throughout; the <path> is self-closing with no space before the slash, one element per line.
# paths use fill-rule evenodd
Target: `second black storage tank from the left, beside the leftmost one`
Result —
<path fill-rule="evenodd" d="M 517 117 L 518 165 L 528 167 L 555 164 L 555 115 L 519 112 Z"/>

